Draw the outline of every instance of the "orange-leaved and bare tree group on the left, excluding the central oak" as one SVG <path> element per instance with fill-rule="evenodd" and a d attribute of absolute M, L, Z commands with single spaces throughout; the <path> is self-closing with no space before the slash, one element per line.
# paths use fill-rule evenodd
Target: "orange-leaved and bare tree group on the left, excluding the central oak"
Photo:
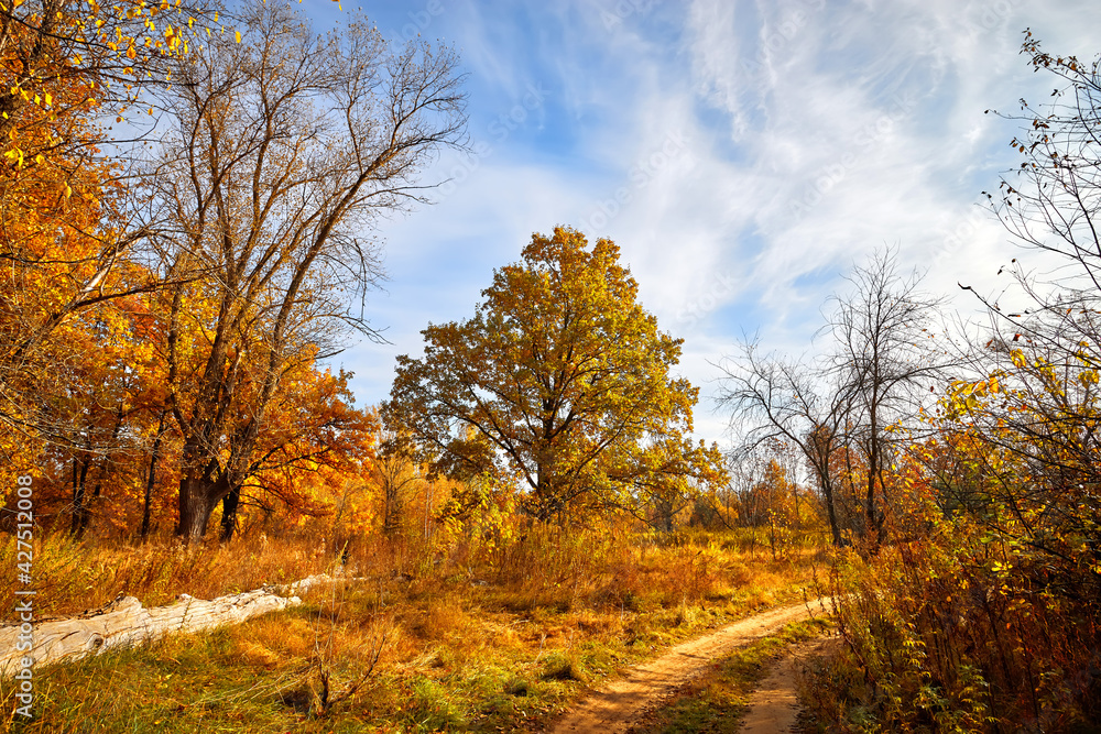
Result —
<path fill-rule="evenodd" d="M 77 535 L 348 512 L 380 424 L 321 361 L 373 335 L 373 219 L 460 140 L 455 56 L 290 2 L 26 0 L 0 25 L 4 486 L 33 475 Z"/>

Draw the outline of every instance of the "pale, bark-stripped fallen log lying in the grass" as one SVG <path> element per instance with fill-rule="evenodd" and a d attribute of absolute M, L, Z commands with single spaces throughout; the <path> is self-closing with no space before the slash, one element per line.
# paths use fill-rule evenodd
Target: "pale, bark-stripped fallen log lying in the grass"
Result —
<path fill-rule="evenodd" d="M 290 592 L 308 589 L 316 577 L 288 587 Z M 327 577 L 326 577 L 327 579 Z M 133 596 L 118 599 L 101 610 L 32 626 L 31 648 L 20 625 L 0 625 L 0 676 L 12 676 L 30 657 L 35 667 L 99 655 L 105 650 L 133 647 L 181 632 L 201 632 L 226 624 L 240 624 L 268 612 L 296 606 L 297 596 L 281 596 L 274 588 L 257 589 L 210 601 L 181 594 L 168 606 L 145 609 Z M 23 648 L 23 649 L 20 649 Z"/>

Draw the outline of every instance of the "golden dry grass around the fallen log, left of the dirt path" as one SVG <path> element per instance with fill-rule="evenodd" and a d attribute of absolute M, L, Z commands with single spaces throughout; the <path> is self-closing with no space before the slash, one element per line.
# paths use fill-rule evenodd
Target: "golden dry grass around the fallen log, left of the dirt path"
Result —
<path fill-rule="evenodd" d="M 105 576 L 130 584 L 127 592 L 148 604 L 331 567 L 331 558 L 312 557 L 306 543 L 273 545 L 208 548 L 210 558 L 171 546 L 135 548 L 131 559 L 124 548 L 83 552 L 99 569 L 121 561 Z M 57 549 L 76 556 L 73 544 L 54 540 L 43 552 Z M 149 572 L 155 559 L 167 568 Z M 743 552 L 730 537 L 601 529 L 533 529 L 493 546 L 469 538 L 445 547 L 364 544 L 349 569 L 366 580 L 312 590 L 301 607 L 43 671 L 41 715 L 24 731 L 533 728 L 625 665 L 800 598 L 811 560 L 809 551 L 792 551 L 772 561 Z M 222 571 L 232 578 L 216 578 Z M 187 585 L 171 589 L 166 580 Z M 76 585 L 62 581 L 51 589 Z M 55 606 L 92 606 L 118 591 L 97 593 L 90 602 L 69 594 Z M 326 690 L 337 697 L 357 682 L 317 715 Z M 10 695 L 0 683 L 0 705 L 9 711 Z"/>

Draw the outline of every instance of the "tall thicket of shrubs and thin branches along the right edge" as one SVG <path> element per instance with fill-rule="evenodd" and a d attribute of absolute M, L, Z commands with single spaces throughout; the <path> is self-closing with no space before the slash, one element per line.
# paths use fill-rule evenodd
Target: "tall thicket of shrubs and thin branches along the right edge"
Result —
<path fill-rule="evenodd" d="M 1028 308 L 986 304 L 989 339 L 884 474 L 887 545 L 839 557 L 847 645 L 810 695 L 840 731 L 1092 731 L 1101 715 L 1099 64 L 1031 33 L 1023 53 L 1067 87 L 1049 112 L 1023 102 L 1024 162 L 991 208 L 1073 270 L 1015 270 Z"/>

